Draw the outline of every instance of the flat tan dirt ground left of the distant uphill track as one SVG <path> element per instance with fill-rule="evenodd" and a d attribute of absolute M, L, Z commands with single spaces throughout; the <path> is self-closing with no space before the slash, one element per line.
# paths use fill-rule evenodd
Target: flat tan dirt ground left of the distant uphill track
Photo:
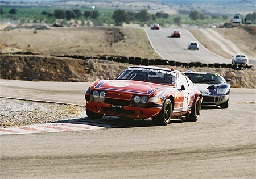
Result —
<path fill-rule="evenodd" d="M 36 33 L 35 33 L 36 32 Z M 136 56 L 159 58 L 142 29 L 56 27 L 47 30 L 0 31 L 1 52 L 40 55 Z"/>

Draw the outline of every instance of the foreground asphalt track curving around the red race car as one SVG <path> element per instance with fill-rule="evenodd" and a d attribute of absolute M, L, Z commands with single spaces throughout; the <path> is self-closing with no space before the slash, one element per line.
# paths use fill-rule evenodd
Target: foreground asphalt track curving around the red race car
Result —
<path fill-rule="evenodd" d="M 80 104 L 88 85 L 1 81 L 1 96 Z M 255 101 L 255 89 L 231 98 Z M 205 107 L 195 123 L 2 135 L 1 178 L 254 178 L 255 116 L 255 102 L 230 103 Z"/>

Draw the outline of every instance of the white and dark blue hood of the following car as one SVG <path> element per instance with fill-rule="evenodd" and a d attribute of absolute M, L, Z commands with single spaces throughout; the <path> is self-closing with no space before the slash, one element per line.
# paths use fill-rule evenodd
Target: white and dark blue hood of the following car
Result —
<path fill-rule="evenodd" d="M 230 85 L 229 84 L 195 84 L 196 87 L 201 91 L 203 95 L 217 95 L 217 88 L 226 88 L 229 94 Z"/>

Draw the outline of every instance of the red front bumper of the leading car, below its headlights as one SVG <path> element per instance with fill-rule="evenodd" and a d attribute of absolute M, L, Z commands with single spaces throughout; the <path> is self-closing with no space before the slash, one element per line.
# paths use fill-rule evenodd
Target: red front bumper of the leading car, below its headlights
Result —
<path fill-rule="evenodd" d="M 150 118 L 155 116 L 161 110 L 160 107 L 131 107 L 123 106 L 123 109 L 113 108 L 111 104 L 86 101 L 86 109 L 94 113 L 101 113 L 113 116 L 122 116 L 127 118 Z"/>

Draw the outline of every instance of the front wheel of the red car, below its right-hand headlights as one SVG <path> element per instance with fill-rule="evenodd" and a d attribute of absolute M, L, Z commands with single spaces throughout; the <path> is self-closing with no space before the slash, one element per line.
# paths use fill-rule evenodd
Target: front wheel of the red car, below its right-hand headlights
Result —
<path fill-rule="evenodd" d="M 172 102 L 170 99 L 166 99 L 162 110 L 152 117 L 152 123 L 156 126 L 166 126 L 171 119 L 172 115 Z"/>

